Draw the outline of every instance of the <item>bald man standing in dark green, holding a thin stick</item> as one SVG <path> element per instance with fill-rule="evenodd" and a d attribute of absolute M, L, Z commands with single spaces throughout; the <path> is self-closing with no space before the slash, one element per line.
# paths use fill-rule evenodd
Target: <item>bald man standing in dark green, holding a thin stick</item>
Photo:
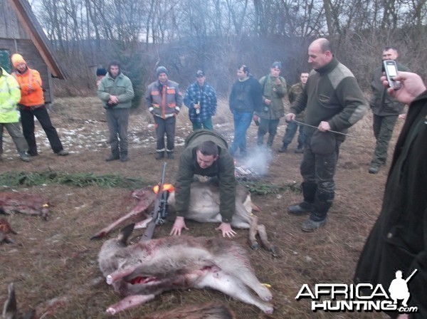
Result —
<path fill-rule="evenodd" d="M 315 231 L 326 224 L 335 193 L 334 174 L 339 145 L 347 129 L 367 112 L 367 103 L 353 73 L 339 63 L 326 38 L 308 48 L 310 72 L 304 90 L 292 103 L 287 121 L 305 110 L 305 147 L 300 172 L 303 202 L 288 207 L 290 214 L 310 213 L 302 231 Z"/>

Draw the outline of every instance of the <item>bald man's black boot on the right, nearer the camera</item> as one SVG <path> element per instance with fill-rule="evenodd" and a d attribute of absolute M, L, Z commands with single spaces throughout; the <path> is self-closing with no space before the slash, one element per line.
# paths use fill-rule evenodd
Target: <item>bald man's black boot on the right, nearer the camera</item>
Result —
<path fill-rule="evenodd" d="M 312 232 L 326 224 L 327 212 L 334 201 L 334 193 L 317 193 L 310 218 L 302 223 L 302 231 Z"/>

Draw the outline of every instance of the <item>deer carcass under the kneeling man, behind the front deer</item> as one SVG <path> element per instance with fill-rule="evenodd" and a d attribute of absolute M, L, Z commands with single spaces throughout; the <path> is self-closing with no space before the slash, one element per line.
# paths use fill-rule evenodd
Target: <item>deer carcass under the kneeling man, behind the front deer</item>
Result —
<path fill-rule="evenodd" d="M 135 224 L 135 229 L 147 227 L 149 221 L 152 220 L 149 212 L 154 210 L 156 194 L 152 191 L 152 187 L 145 187 L 133 191 L 132 197 L 139 200 L 137 206 L 125 216 L 120 217 L 120 219 L 98 231 L 92 239 L 102 238 L 124 221 L 129 221 L 133 218 L 143 219 Z M 175 193 L 173 191 L 170 192 L 167 203 L 168 219 L 174 220 L 176 214 L 174 209 Z M 249 242 L 252 249 L 258 249 L 255 236 L 259 234 L 265 249 L 268 249 L 275 255 L 274 246 L 268 242 L 265 226 L 258 224 L 258 217 L 252 214 L 254 207 L 256 208 L 251 201 L 251 193 L 243 186 L 238 185 L 236 188 L 236 212 L 233 215 L 231 226 L 238 229 L 249 229 Z M 221 214 L 219 214 L 219 187 L 217 184 L 211 182 L 194 182 L 191 184 L 189 211 L 186 219 L 192 219 L 200 223 L 221 223 Z"/>

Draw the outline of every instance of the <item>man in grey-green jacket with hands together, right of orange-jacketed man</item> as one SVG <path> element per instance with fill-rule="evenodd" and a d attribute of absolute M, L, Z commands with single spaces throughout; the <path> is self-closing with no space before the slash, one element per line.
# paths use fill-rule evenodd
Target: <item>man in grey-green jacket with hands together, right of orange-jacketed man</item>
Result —
<path fill-rule="evenodd" d="M 111 155 L 105 160 L 107 162 L 114 160 L 127 162 L 129 160 L 127 157 L 127 125 L 134 91 L 132 82 L 120 70 L 119 61 L 110 62 L 108 73 L 102 78 L 97 95 L 107 110 L 107 123 L 110 131 L 108 142 L 110 142 Z"/>

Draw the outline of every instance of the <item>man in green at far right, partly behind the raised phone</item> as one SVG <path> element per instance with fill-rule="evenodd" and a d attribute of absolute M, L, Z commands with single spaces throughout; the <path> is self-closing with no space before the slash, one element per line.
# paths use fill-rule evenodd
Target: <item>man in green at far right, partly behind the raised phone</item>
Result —
<path fill-rule="evenodd" d="M 398 56 L 399 53 L 396 48 L 386 46 L 382 53 L 382 60 L 396 60 Z M 401 71 L 408 70 L 406 66 L 402 66 L 399 63 L 397 64 L 397 68 Z M 383 75 L 383 71 L 383 66 L 376 68 L 371 82 L 372 95 L 369 106 L 374 115 L 372 128 L 374 129 L 376 145 L 368 171 L 370 174 L 378 173 L 380 167 L 386 164 L 387 150 L 389 149 L 391 135 L 393 135 L 394 125 L 396 125 L 397 117 L 404 110 L 404 104 L 388 95 L 386 88 L 382 85 L 381 76 Z"/>

